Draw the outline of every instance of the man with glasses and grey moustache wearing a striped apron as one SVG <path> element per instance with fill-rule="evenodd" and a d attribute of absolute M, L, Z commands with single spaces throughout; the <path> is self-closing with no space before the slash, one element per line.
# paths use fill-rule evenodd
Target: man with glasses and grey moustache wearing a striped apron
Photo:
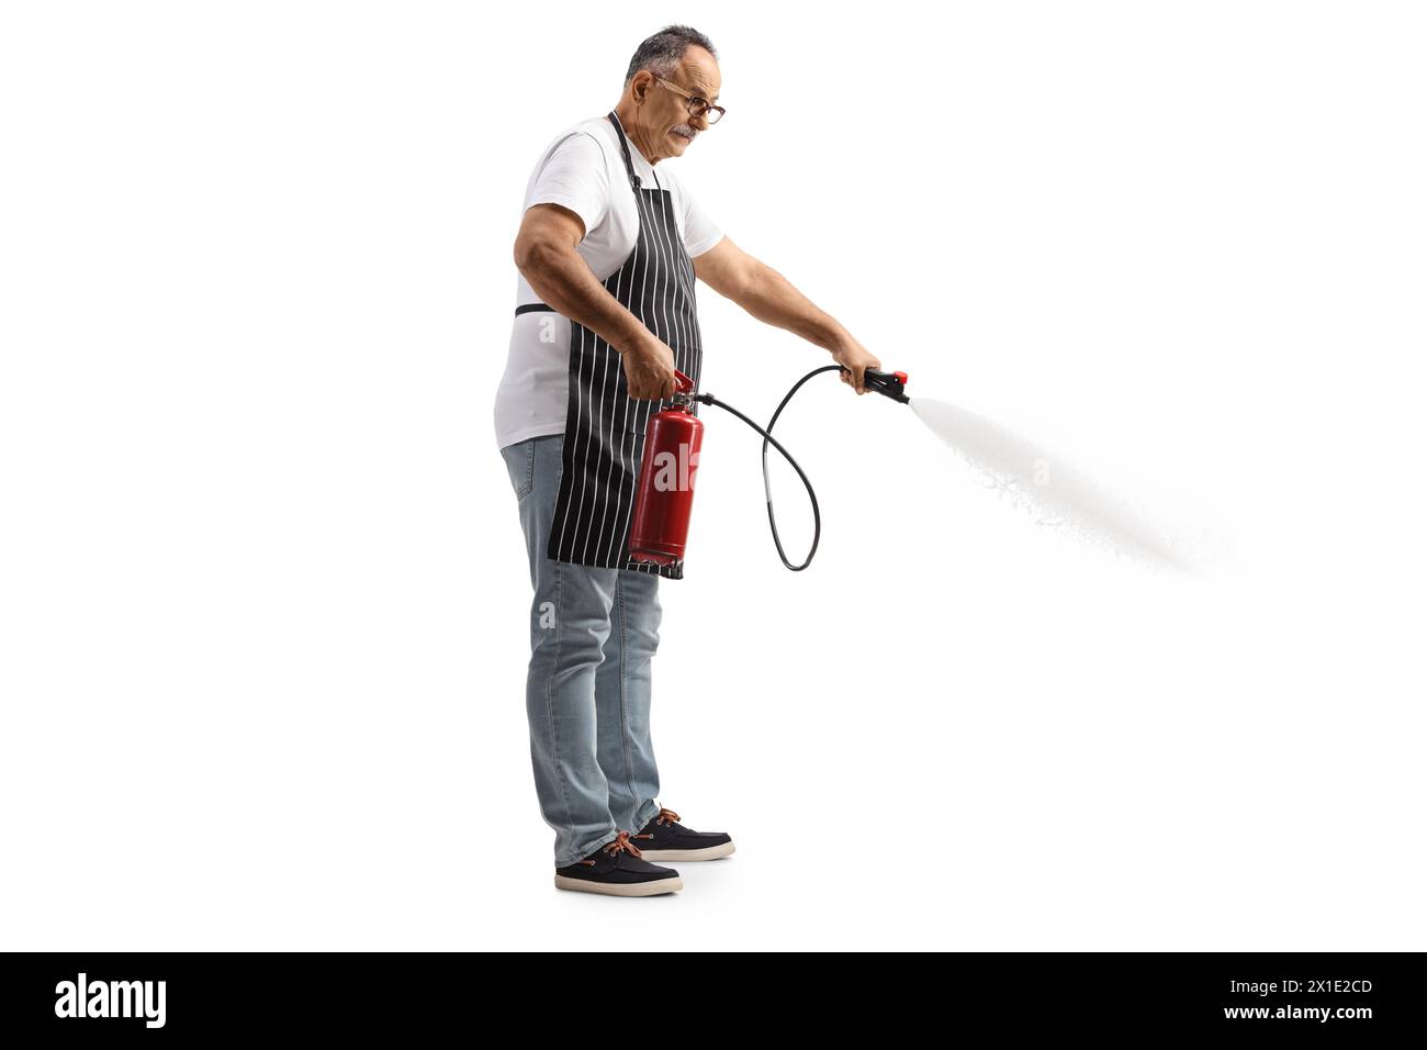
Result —
<path fill-rule="evenodd" d="M 865 393 L 876 357 L 782 274 L 739 250 L 668 166 L 723 116 L 714 44 L 669 26 L 639 44 L 614 111 L 562 131 L 525 190 L 515 239 L 515 327 L 495 433 L 529 557 L 525 703 L 535 790 L 555 829 L 555 886 L 626 897 L 679 890 L 654 860 L 712 860 L 725 833 L 694 831 L 655 801 L 651 659 L 659 577 L 684 563 L 629 559 L 645 424 L 672 403 L 675 369 L 704 360 L 694 280 L 845 366 Z"/>

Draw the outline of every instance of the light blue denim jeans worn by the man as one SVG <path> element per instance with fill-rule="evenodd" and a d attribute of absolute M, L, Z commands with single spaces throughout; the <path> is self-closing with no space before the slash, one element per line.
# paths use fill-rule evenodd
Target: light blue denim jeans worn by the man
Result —
<path fill-rule="evenodd" d="M 659 646 L 659 576 L 545 556 L 564 434 L 501 449 L 531 564 L 525 713 L 535 794 L 555 829 L 555 866 L 574 864 L 659 811 L 649 739 L 649 663 Z"/>

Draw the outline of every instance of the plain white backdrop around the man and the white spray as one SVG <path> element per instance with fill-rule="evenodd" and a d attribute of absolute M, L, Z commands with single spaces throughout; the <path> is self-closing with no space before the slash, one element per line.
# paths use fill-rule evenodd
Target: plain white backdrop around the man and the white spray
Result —
<path fill-rule="evenodd" d="M 1424 947 L 1411 4 L 3 11 L 3 947 Z M 654 729 L 738 853 L 628 901 L 551 886 L 491 401 L 531 166 L 678 20 L 735 241 L 1217 553 L 819 377 L 788 573 L 706 409 Z M 701 311 L 758 417 L 826 361 Z"/>

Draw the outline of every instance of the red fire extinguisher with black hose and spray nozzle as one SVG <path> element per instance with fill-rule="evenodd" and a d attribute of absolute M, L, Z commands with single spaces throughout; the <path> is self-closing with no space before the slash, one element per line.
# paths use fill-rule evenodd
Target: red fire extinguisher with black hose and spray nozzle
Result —
<path fill-rule="evenodd" d="M 763 436 L 763 493 L 768 497 L 768 524 L 773 533 L 773 544 L 778 547 L 778 557 L 782 563 L 799 571 L 806 569 L 812 556 L 818 553 L 818 540 L 822 536 L 822 517 L 818 511 L 818 496 L 812 490 L 812 481 L 798 466 L 798 460 L 775 439 L 769 430 L 778 421 L 788 401 L 798 387 L 822 371 L 846 371 L 841 364 L 828 364 L 813 369 L 783 397 L 773 417 L 768 421 L 768 430 L 758 426 L 748 416 L 731 404 L 726 404 L 712 394 L 694 393 L 694 380 L 678 369 L 674 370 L 675 393 L 674 404 L 649 417 L 644 437 L 644 461 L 639 464 L 639 486 L 635 493 L 634 523 L 629 531 L 629 557 L 635 561 L 654 564 L 672 564 L 684 559 L 684 549 L 689 536 L 689 514 L 694 510 L 694 477 L 698 473 L 699 451 L 704 447 L 704 421 L 694 414 L 694 401 L 716 404 L 725 411 L 731 411 L 748 426 Z M 868 390 L 890 397 L 893 401 L 908 404 L 905 386 L 905 371 L 863 370 L 863 386 Z M 772 444 L 783 454 L 798 477 L 802 479 L 812 503 L 813 536 L 812 547 L 802 564 L 793 564 L 783 551 L 782 540 L 778 536 L 778 521 L 773 517 L 773 493 L 768 483 L 768 446 Z"/>

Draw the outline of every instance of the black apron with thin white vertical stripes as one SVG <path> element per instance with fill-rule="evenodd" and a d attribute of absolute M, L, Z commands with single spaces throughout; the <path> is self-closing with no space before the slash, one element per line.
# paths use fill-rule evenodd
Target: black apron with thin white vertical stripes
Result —
<path fill-rule="evenodd" d="M 694 263 L 674 220 L 674 197 L 659 186 L 658 174 L 654 179 L 658 189 L 641 186 L 619 117 L 614 113 L 608 117 L 619 134 L 639 207 L 639 237 L 629 259 L 605 280 L 605 290 L 674 350 L 674 367 L 692 379 L 698 390 L 704 344 L 694 310 Z M 549 307 L 531 304 L 517 313 L 532 309 Z M 629 559 L 645 426 L 649 416 L 671 404 L 672 400 L 631 399 L 619 351 L 571 320 L 564 471 L 547 547 L 549 559 L 684 579 L 682 560 L 658 566 Z M 696 414 L 698 404 L 691 410 Z"/>

